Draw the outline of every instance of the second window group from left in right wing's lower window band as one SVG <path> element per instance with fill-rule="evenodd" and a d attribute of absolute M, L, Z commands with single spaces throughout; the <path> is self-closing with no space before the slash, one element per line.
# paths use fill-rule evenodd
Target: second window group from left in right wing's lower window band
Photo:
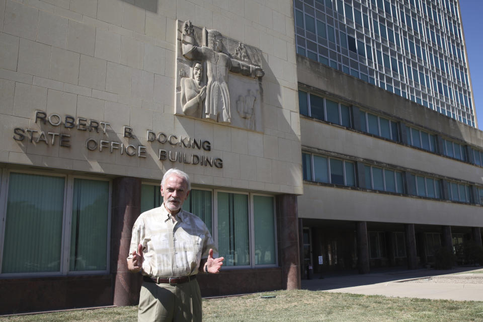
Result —
<path fill-rule="evenodd" d="M 366 189 L 405 193 L 403 173 L 400 171 L 364 165 L 364 177 Z"/>

